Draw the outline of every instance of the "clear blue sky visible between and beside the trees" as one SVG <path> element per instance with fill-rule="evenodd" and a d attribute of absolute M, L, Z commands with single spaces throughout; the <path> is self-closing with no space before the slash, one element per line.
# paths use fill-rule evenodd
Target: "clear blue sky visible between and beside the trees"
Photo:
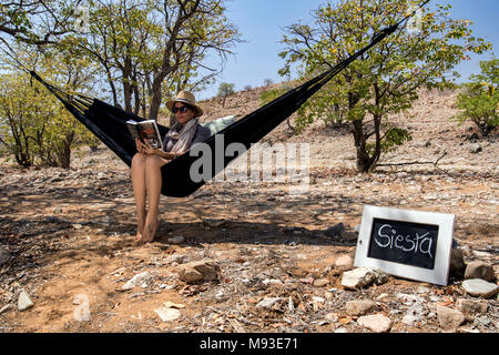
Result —
<path fill-rule="evenodd" d="M 336 1 L 336 0 L 332 0 Z M 278 57 L 284 47 L 279 43 L 284 28 L 302 21 L 310 23 L 310 13 L 326 3 L 326 0 L 232 0 L 228 2 L 227 17 L 235 23 L 245 43 L 237 44 L 235 55 L 228 57 L 220 80 L 210 89 L 197 93 L 198 100 L 216 95 L 221 82 L 235 84 L 235 90 L 244 87 L 261 87 L 266 79 L 277 83 L 284 80 L 277 71 L 284 65 Z M 493 43 L 493 51 L 499 55 L 498 0 L 432 0 L 431 3 L 451 3 L 451 17 L 468 19 L 473 22 L 473 32 Z M 490 59 L 490 54 L 472 55 L 470 62 L 458 67 L 466 80 L 479 72 L 480 60 Z"/>

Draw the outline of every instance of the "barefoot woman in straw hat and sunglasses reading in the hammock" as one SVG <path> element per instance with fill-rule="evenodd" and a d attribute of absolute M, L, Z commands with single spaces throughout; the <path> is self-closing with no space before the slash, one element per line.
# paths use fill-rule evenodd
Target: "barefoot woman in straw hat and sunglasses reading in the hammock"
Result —
<path fill-rule="evenodd" d="M 195 143 L 207 140 L 211 132 L 197 122 L 203 110 L 196 104 L 194 95 L 189 91 L 181 91 L 176 98 L 166 102 L 177 120 L 163 141 L 163 150 L 152 148 L 149 143 L 135 141 L 138 153 L 132 160 L 132 185 L 136 204 L 139 243 L 150 243 L 157 231 L 157 212 L 162 189 L 161 168 L 169 161 L 187 152 Z M 145 210 L 145 199 L 149 212 Z"/>

